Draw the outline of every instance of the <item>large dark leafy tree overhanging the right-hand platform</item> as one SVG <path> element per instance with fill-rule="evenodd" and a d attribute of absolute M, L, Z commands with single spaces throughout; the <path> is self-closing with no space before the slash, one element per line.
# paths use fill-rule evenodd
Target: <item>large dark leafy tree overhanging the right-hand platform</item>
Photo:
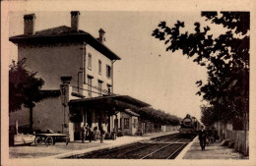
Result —
<path fill-rule="evenodd" d="M 182 50 L 183 55 L 208 70 L 208 81 L 198 81 L 200 90 L 221 120 L 230 122 L 243 118 L 248 129 L 249 115 L 249 12 L 202 12 L 212 25 L 221 25 L 226 31 L 214 38 L 210 27 L 181 32 L 184 22 L 177 21 L 173 28 L 161 22 L 153 36 L 163 40 L 166 51 Z M 209 112 L 210 110 L 208 110 Z M 211 115 L 211 114 L 210 114 Z"/>

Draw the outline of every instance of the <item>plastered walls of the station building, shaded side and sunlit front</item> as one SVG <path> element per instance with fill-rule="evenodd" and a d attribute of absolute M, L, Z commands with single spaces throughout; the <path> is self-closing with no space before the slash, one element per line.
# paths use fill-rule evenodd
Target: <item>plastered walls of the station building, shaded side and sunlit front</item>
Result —
<path fill-rule="evenodd" d="M 18 59 L 27 58 L 27 69 L 29 71 L 37 72 L 37 76 L 44 80 L 42 89 L 59 89 L 61 80 L 60 77 L 71 76 L 71 85 L 78 85 L 78 72 L 82 71 L 80 68 L 85 68 L 86 74 L 80 74 L 80 87 L 88 88 L 87 84 L 83 83 L 83 77 L 93 76 L 93 85 L 98 86 L 98 80 L 102 81 L 102 88 L 107 90 L 107 84 L 112 84 L 111 78 L 106 77 L 106 64 L 111 66 L 111 61 L 96 51 L 95 48 L 86 46 L 86 56 L 88 59 L 89 53 L 92 54 L 92 69 L 88 69 L 88 62 L 84 62 L 83 44 L 71 44 L 63 46 L 40 46 L 40 47 L 19 47 Z M 101 61 L 101 75 L 98 74 L 98 59 Z M 87 80 L 86 80 L 87 81 Z M 73 88 L 73 90 L 76 88 Z M 92 88 L 94 91 L 98 91 Z M 81 91 L 82 92 L 82 91 Z M 83 90 L 84 95 L 88 97 L 88 91 Z M 93 97 L 98 94 L 93 93 Z M 72 99 L 76 97 L 72 96 Z M 64 133 L 70 132 L 71 140 L 74 138 L 74 124 L 69 123 L 68 107 L 65 108 L 65 123 L 69 125 L 64 129 Z M 111 116 L 110 130 L 113 130 L 113 119 Z M 19 126 L 30 124 L 29 109 L 24 108 L 22 111 L 12 113 L 10 116 L 10 125 L 19 121 Z M 46 131 L 52 129 L 54 132 L 62 132 L 62 124 L 64 122 L 64 109 L 61 104 L 61 98 L 45 99 L 33 108 L 33 130 Z M 96 119 L 93 120 L 93 127 L 97 126 Z M 103 129 L 107 131 L 107 125 L 102 124 Z M 119 126 L 119 123 L 118 123 Z"/>

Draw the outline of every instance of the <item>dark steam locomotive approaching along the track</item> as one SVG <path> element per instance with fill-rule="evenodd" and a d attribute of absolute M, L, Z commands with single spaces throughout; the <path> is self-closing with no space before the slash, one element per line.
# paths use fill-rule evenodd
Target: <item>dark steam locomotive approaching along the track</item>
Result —
<path fill-rule="evenodd" d="M 197 135 L 197 131 L 200 130 L 201 123 L 195 117 L 191 117 L 189 114 L 181 121 L 179 134 L 186 137 L 194 137 Z"/>

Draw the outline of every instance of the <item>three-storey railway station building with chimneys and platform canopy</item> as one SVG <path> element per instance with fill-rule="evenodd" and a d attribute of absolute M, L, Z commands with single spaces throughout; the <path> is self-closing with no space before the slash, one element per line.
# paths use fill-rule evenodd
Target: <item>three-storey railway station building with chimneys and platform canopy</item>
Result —
<path fill-rule="evenodd" d="M 105 46 L 105 31 L 98 37 L 81 30 L 80 12 L 71 12 L 71 27 L 35 31 L 34 14 L 24 16 L 24 34 L 12 36 L 18 46 L 18 60 L 27 59 L 28 71 L 44 81 L 47 98 L 32 111 L 33 131 L 51 129 L 80 139 L 84 124 L 105 132 L 123 130 L 134 135 L 139 115 L 133 108 L 150 106 L 128 95 L 113 93 L 113 65 L 121 60 Z M 30 124 L 30 109 L 10 114 L 10 125 Z"/>

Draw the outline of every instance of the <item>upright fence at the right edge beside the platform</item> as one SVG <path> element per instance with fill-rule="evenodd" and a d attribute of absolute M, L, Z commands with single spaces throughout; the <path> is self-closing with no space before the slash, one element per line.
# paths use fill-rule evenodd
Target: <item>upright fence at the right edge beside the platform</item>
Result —
<path fill-rule="evenodd" d="M 226 138 L 234 141 L 234 148 L 244 155 L 249 155 L 248 136 L 248 132 L 245 131 L 226 130 Z"/>

